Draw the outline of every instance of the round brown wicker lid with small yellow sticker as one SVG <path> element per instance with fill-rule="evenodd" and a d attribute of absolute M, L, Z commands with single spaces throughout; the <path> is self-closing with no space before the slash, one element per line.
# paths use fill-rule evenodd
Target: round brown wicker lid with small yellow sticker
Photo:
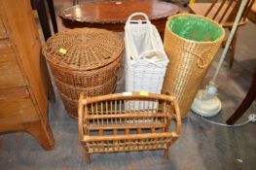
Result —
<path fill-rule="evenodd" d="M 96 28 L 78 28 L 55 34 L 43 53 L 47 60 L 62 68 L 92 70 L 103 67 L 124 50 L 122 39 L 111 31 Z"/>

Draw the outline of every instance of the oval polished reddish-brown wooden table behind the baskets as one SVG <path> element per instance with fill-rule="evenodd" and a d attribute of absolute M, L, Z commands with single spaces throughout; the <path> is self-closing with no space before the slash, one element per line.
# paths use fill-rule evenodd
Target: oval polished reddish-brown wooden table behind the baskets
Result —
<path fill-rule="evenodd" d="M 145 13 L 160 33 L 165 32 L 167 17 L 178 14 L 179 7 L 156 0 L 88 2 L 63 10 L 59 17 L 64 26 L 96 27 L 112 31 L 124 31 L 128 16 Z"/>

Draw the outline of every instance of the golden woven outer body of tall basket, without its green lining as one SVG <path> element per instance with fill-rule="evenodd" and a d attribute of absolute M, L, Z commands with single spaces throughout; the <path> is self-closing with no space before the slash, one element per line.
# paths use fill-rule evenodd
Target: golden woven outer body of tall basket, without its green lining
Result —
<path fill-rule="evenodd" d="M 173 17 L 182 16 L 192 15 L 184 14 Z M 206 17 L 203 18 L 210 20 Z M 169 64 L 165 73 L 162 93 L 173 93 L 177 97 L 182 118 L 187 116 L 224 35 L 223 30 L 223 36 L 214 42 L 195 42 L 178 37 L 168 27 L 165 27 L 164 46 Z"/>

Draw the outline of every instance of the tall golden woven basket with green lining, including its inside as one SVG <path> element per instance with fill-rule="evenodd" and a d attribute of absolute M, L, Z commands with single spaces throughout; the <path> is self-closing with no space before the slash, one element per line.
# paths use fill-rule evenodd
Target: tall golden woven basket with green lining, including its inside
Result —
<path fill-rule="evenodd" d="M 181 24 L 172 24 L 172 21 L 182 18 L 186 19 L 180 20 Z M 193 24 L 196 29 L 189 29 Z M 185 35 L 185 38 L 180 35 Z M 182 118 L 187 116 L 224 35 L 224 29 L 206 17 L 181 14 L 168 18 L 164 46 L 169 64 L 162 93 L 172 93 L 177 97 Z"/>

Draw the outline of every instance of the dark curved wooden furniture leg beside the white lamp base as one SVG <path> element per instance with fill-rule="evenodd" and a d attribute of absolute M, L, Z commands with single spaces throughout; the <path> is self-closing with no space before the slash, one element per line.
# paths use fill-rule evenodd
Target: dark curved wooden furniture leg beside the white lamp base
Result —
<path fill-rule="evenodd" d="M 226 122 L 227 124 L 234 124 L 243 114 L 244 112 L 250 107 L 251 103 L 254 101 L 256 97 L 256 70 L 254 71 L 253 81 L 247 92 L 245 98 L 241 102 L 238 110 L 228 119 Z"/>

